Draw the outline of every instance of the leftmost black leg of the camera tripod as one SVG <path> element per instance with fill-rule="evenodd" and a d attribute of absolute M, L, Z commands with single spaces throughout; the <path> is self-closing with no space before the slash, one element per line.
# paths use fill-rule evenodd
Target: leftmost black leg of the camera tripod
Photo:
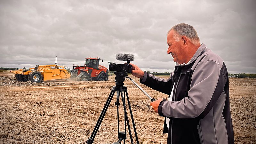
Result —
<path fill-rule="evenodd" d="M 102 122 L 102 120 L 103 120 L 103 118 L 104 118 L 104 116 L 105 116 L 105 114 L 107 112 L 107 109 L 109 107 L 109 104 L 110 104 L 110 102 L 111 102 L 115 92 L 116 92 L 116 86 L 112 88 L 112 90 L 111 90 L 111 92 L 110 92 L 110 94 L 108 96 L 108 100 L 106 101 L 106 103 L 105 103 L 105 105 L 104 105 L 104 107 L 103 107 L 103 109 L 102 109 L 102 111 L 100 113 L 100 117 L 99 117 L 99 119 L 98 119 L 98 121 L 97 121 L 97 123 L 96 123 L 96 125 L 95 125 L 95 127 L 93 129 L 93 131 L 92 131 L 92 135 L 87 140 L 87 144 L 92 144 L 93 143 L 93 140 L 94 140 L 94 138 L 96 136 L 96 133 L 98 132 L 98 130 L 100 128 L 100 124 L 101 124 L 101 122 Z"/>

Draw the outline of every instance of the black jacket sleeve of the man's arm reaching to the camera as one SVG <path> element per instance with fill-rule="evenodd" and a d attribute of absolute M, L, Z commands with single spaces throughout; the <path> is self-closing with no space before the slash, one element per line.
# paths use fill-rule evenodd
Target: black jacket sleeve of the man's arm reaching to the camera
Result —
<path fill-rule="evenodd" d="M 148 74 L 145 71 L 143 78 L 140 79 L 140 83 L 145 84 L 156 91 L 163 92 L 165 94 L 170 94 L 172 85 L 172 75 L 173 73 L 171 73 L 169 79 L 165 80 L 163 78 L 159 78 L 154 75 Z"/>

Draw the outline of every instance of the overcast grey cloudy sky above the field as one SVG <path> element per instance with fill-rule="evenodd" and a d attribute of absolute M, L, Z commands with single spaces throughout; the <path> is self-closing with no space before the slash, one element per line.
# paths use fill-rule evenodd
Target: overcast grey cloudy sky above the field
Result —
<path fill-rule="evenodd" d="M 0 67 L 54 64 L 84 58 L 108 61 L 132 53 L 142 70 L 172 72 L 166 33 L 192 25 L 200 42 L 220 55 L 229 73 L 256 73 L 255 0 L 42 1 L 0 0 Z"/>

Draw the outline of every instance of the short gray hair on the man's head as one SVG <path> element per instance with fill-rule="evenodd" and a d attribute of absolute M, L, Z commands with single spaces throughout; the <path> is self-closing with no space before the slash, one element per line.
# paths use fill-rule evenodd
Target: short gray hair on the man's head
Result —
<path fill-rule="evenodd" d="M 167 35 L 171 30 L 174 30 L 173 38 L 175 39 L 176 42 L 180 41 L 182 36 L 187 36 L 193 44 L 200 44 L 200 38 L 198 37 L 196 30 L 186 23 L 180 23 L 173 26 L 168 31 Z"/>

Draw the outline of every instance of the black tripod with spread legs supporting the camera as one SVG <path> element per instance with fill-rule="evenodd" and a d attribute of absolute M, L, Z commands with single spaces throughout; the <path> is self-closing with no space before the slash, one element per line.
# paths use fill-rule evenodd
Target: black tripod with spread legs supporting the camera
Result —
<path fill-rule="evenodd" d="M 131 109 L 131 104 L 130 104 L 130 100 L 129 100 L 129 96 L 128 96 L 128 92 L 127 92 L 127 87 L 124 86 L 124 80 L 125 77 L 127 77 L 127 73 L 124 72 L 115 72 L 114 74 L 116 74 L 116 86 L 113 86 L 113 88 L 111 89 L 111 92 L 108 96 L 107 102 L 104 105 L 102 112 L 100 113 L 100 117 L 92 131 L 92 135 L 90 138 L 88 138 L 87 140 L 87 144 L 92 144 L 94 141 L 94 138 L 96 136 L 96 133 L 98 132 L 99 128 L 100 128 L 100 124 L 107 112 L 107 109 L 109 107 L 109 104 L 116 92 L 116 102 L 115 105 L 117 106 L 117 127 L 118 127 L 118 141 L 117 142 L 113 142 L 112 144 L 122 144 L 122 141 L 124 141 L 125 144 L 125 140 L 126 140 L 126 123 L 127 123 L 127 127 L 128 127 L 128 131 L 129 131 L 129 135 L 130 135 L 130 140 L 131 143 L 133 144 L 133 140 L 132 140 L 132 133 L 131 133 L 131 128 L 130 128 L 130 124 L 129 124 L 129 120 L 128 120 L 128 116 L 127 116 L 127 111 L 126 111 L 126 107 L 125 107 L 125 96 L 127 98 L 127 103 L 129 106 L 129 110 L 130 110 L 130 114 L 131 114 L 131 119 L 132 119 L 132 125 L 133 125 L 133 129 L 134 129 L 134 133 L 135 133 L 135 138 L 137 141 L 137 144 L 139 144 L 139 140 L 138 140 L 138 135 L 136 132 L 136 128 L 135 128 L 135 123 L 134 123 L 134 119 L 133 119 L 133 115 L 132 115 L 132 109 Z M 122 98 L 122 102 L 123 102 L 123 106 L 124 106 L 124 132 L 121 132 L 119 129 L 119 98 L 120 98 L 120 94 L 121 94 L 121 98 Z"/>

